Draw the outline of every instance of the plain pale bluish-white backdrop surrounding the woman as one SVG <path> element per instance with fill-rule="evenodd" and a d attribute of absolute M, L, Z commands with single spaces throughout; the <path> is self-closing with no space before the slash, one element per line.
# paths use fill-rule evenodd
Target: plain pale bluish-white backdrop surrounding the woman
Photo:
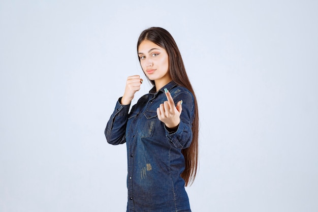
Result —
<path fill-rule="evenodd" d="M 125 145 L 109 145 L 104 128 L 126 77 L 143 76 L 136 44 L 150 26 L 175 38 L 199 102 L 192 210 L 318 211 L 317 11 L 2 0 L 0 211 L 125 211 Z"/>

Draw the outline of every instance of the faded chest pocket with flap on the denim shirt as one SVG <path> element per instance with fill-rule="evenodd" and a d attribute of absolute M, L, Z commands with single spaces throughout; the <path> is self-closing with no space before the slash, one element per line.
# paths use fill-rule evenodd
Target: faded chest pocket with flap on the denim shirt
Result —
<path fill-rule="evenodd" d="M 158 119 L 157 112 L 145 111 L 143 115 L 144 117 L 139 123 L 138 133 L 142 138 L 151 137 L 153 135 L 155 123 Z"/>

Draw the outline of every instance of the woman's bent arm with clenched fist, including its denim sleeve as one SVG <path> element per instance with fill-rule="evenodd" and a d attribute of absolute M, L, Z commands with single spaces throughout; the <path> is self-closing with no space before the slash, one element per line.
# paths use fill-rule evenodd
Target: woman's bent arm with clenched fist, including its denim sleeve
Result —
<path fill-rule="evenodd" d="M 125 130 L 128 120 L 130 104 L 135 93 L 140 90 L 142 79 L 139 75 L 127 78 L 125 92 L 117 101 L 115 110 L 110 116 L 105 129 L 107 142 L 113 145 L 125 143 Z"/>

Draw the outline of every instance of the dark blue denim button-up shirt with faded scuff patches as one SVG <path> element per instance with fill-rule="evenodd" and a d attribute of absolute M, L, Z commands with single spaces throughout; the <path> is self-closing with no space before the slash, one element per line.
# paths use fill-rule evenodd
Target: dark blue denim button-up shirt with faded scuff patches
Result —
<path fill-rule="evenodd" d="M 157 117 L 156 109 L 167 101 L 167 88 L 175 102 L 182 100 L 180 124 L 173 132 Z M 181 149 L 192 141 L 194 97 L 174 81 L 142 96 L 130 113 L 130 105 L 117 102 L 105 135 L 108 143 L 126 143 L 128 158 L 127 211 L 190 211 L 184 180 Z"/>

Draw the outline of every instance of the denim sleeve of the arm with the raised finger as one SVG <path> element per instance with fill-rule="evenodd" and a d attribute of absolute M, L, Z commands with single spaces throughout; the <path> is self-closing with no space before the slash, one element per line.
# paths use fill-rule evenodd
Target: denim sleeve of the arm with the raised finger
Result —
<path fill-rule="evenodd" d="M 184 92 L 173 97 L 177 103 L 182 100 L 180 123 L 175 131 L 165 128 L 166 137 L 176 148 L 187 148 L 192 142 L 192 123 L 194 120 L 194 98 L 192 94 Z"/>

